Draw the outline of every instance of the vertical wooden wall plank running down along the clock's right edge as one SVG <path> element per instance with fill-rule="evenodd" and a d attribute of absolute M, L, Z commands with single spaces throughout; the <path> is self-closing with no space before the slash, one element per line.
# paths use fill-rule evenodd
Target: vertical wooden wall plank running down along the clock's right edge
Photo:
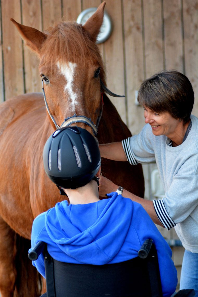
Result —
<path fill-rule="evenodd" d="M 104 42 L 107 88 L 118 95 L 125 95 L 121 1 L 107 0 L 106 2 L 105 9 L 113 21 L 113 32 L 110 38 Z M 110 100 L 115 105 L 122 120 L 126 123 L 125 98 L 110 97 Z"/>

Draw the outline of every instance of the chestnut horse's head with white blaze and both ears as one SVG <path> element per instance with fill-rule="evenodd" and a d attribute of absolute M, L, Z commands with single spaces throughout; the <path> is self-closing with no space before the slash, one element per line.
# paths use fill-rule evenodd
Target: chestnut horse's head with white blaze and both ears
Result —
<path fill-rule="evenodd" d="M 39 59 L 43 94 L 53 127 L 78 123 L 96 135 L 102 114 L 104 65 L 96 38 L 103 21 L 103 2 L 84 26 L 59 21 L 44 33 L 11 19 Z"/>

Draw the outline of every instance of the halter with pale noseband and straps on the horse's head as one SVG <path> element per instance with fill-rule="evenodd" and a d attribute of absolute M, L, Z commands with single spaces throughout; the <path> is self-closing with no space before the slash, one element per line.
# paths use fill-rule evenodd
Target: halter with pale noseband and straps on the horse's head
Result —
<path fill-rule="evenodd" d="M 124 95 L 117 95 L 117 94 L 114 94 L 113 92 L 111 92 L 109 89 L 107 89 L 107 87 L 104 85 L 104 83 L 103 83 L 103 81 L 101 79 L 100 79 L 100 84 L 101 84 L 101 89 L 103 89 L 110 96 L 113 96 L 113 97 L 125 97 Z M 44 97 L 47 112 L 49 113 L 49 116 L 52 119 L 56 129 L 59 129 L 60 127 L 70 126 L 73 123 L 85 123 L 85 124 L 87 124 L 88 126 L 90 126 L 92 128 L 92 130 L 94 132 L 94 135 L 96 136 L 97 131 L 98 131 L 99 121 L 100 121 L 100 118 L 102 116 L 102 109 L 100 110 L 100 114 L 99 114 L 99 117 L 97 119 L 96 125 L 93 123 L 93 121 L 91 121 L 91 119 L 88 119 L 86 116 L 77 116 L 76 114 L 74 114 L 73 116 L 70 116 L 70 117 L 67 117 L 66 119 L 64 119 L 63 123 L 59 127 L 56 124 L 56 120 L 54 119 L 53 115 L 50 113 L 49 106 L 47 104 L 47 100 L 46 100 L 46 96 L 45 96 L 43 79 L 42 79 L 42 93 L 43 93 L 43 97 Z M 102 90 L 101 90 L 101 94 L 102 94 Z"/>

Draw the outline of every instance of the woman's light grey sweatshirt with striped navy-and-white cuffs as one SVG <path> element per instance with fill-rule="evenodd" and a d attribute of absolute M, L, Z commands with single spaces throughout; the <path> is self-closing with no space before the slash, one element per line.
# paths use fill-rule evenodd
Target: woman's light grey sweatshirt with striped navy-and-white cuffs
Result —
<path fill-rule="evenodd" d="M 186 250 L 198 253 L 198 119 L 191 116 L 191 121 L 179 146 L 153 135 L 149 124 L 122 145 L 130 164 L 156 162 L 165 191 L 164 198 L 153 201 L 156 214 L 165 228 L 175 227 Z"/>

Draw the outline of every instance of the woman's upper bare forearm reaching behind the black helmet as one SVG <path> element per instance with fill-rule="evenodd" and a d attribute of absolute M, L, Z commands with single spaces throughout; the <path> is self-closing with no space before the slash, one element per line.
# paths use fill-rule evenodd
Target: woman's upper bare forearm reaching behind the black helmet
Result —
<path fill-rule="evenodd" d="M 101 157 L 114 161 L 127 161 L 122 143 L 112 142 L 99 145 Z"/>

